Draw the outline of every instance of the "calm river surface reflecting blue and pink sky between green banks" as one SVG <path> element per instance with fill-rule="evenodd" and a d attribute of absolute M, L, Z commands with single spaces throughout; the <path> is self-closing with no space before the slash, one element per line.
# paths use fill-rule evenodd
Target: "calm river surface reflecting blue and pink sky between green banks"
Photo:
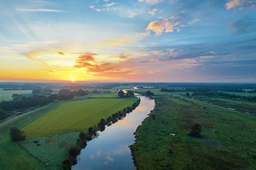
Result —
<path fill-rule="evenodd" d="M 133 133 L 154 108 L 154 101 L 141 97 L 141 103 L 127 116 L 99 132 L 97 139 L 87 143 L 78 157 L 74 170 L 134 169 L 129 145 L 134 143 Z"/>

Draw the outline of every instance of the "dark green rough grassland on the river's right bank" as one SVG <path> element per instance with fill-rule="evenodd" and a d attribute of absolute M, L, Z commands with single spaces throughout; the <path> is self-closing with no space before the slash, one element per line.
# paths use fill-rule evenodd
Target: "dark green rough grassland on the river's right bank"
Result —
<path fill-rule="evenodd" d="M 132 145 L 137 169 L 256 169 L 256 118 L 178 95 L 154 98 Z M 202 138 L 188 135 L 194 123 Z"/>

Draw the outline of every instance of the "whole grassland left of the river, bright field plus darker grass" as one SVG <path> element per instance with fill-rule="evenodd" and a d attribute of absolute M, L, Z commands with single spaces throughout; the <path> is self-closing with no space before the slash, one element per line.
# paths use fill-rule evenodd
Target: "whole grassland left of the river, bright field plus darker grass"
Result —
<path fill-rule="evenodd" d="M 75 145 L 80 130 L 87 130 L 101 118 L 137 101 L 137 98 L 116 98 L 112 94 L 102 94 L 103 98 L 90 97 L 92 95 L 55 101 L 0 123 L 1 169 L 59 169 L 68 150 Z M 23 128 L 28 138 L 11 142 L 11 126 Z"/>

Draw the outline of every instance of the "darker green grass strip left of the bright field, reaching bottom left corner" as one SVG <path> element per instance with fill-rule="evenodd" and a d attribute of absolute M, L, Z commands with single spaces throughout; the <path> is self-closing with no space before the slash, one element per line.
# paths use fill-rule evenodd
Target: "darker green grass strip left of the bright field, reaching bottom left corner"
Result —
<path fill-rule="evenodd" d="M 0 123 L 0 167 L 1 169 L 44 169 L 43 163 L 23 149 L 18 142 L 11 142 L 9 129 L 15 125 L 22 128 L 48 111 L 57 108 L 58 103 L 50 103 L 47 106 L 34 111 L 18 115 L 15 118 Z"/>

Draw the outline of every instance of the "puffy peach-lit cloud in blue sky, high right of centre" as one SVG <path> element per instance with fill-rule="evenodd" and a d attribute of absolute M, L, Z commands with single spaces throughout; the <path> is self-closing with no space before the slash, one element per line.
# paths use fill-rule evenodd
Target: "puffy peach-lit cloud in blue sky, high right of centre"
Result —
<path fill-rule="evenodd" d="M 180 22 L 179 21 L 168 21 L 168 19 L 161 19 L 152 21 L 149 23 L 149 25 L 146 27 L 147 30 L 152 30 L 156 34 L 161 33 L 172 33 L 174 30 L 177 30 L 177 26 Z"/>

